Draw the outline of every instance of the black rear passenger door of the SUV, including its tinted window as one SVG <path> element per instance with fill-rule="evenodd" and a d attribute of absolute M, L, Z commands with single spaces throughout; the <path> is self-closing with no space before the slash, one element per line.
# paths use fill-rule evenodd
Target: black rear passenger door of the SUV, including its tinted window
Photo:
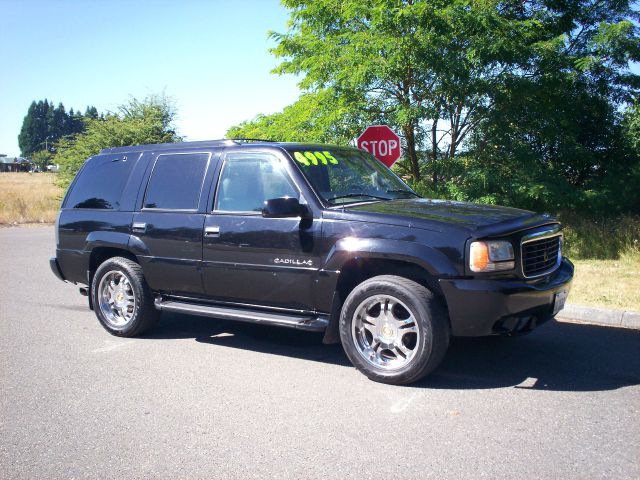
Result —
<path fill-rule="evenodd" d="M 205 205 L 217 154 L 207 151 L 153 155 L 130 248 L 149 286 L 174 295 L 201 295 Z"/>

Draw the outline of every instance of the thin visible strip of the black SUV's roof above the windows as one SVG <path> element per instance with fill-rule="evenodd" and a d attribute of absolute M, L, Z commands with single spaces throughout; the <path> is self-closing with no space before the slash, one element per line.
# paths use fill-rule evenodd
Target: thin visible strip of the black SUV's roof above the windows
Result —
<path fill-rule="evenodd" d="M 181 150 L 194 148 L 224 148 L 224 147 L 280 147 L 289 149 L 305 148 L 305 149 L 345 149 L 353 148 L 349 146 L 329 145 L 323 143 L 302 143 L 302 142 L 274 142 L 262 139 L 249 138 L 233 138 L 221 140 L 203 140 L 199 142 L 178 142 L 178 143 L 154 143 L 148 145 L 132 145 L 127 147 L 103 148 L 100 153 L 129 153 L 129 152 L 145 152 L 145 151 L 162 151 L 162 150 Z"/>

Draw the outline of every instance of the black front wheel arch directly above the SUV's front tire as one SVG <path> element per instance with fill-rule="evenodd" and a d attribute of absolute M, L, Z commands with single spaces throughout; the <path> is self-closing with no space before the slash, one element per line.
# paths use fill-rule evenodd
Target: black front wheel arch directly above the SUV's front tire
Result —
<path fill-rule="evenodd" d="M 350 260 L 340 269 L 336 291 L 344 302 L 351 290 L 363 281 L 378 275 L 397 275 L 427 287 L 435 295 L 442 296 L 437 280 L 415 263 L 399 260 L 359 258 Z"/>

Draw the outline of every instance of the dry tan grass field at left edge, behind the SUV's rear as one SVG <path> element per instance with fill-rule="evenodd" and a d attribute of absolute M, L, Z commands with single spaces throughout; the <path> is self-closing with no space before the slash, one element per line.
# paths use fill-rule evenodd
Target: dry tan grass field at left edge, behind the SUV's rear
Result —
<path fill-rule="evenodd" d="M 62 189 L 54 173 L 0 173 L 0 225 L 53 223 Z"/>

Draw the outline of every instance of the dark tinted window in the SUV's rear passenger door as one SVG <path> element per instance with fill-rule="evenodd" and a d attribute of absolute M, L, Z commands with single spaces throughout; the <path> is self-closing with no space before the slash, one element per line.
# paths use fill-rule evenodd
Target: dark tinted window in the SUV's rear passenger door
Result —
<path fill-rule="evenodd" d="M 208 153 L 158 155 L 144 208 L 196 210 L 208 160 Z"/>

